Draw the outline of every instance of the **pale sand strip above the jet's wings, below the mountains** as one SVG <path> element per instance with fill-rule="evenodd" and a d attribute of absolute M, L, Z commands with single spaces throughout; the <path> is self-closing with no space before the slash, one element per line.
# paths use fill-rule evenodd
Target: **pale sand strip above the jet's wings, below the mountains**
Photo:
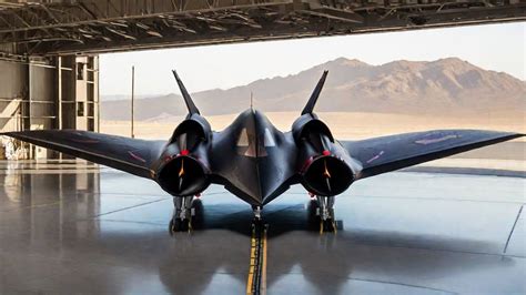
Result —
<path fill-rule="evenodd" d="M 297 113 L 276 112 L 266 113 L 271 122 L 282 130 L 289 131 L 297 118 Z M 380 135 L 425 131 L 433 129 L 485 129 L 497 131 L 513 131 L 526 133 L 526 119 L 490 118 L 484 114 L 481 118 L 441 118 L 414 116 L 382 113 L 318 113 L 327 123 L 337 139 L 367 139 Z M 236 114 L 206 116 L 213 130 L 220 131 L 235 119 Z M 160 122 L 135 122 L 135 136 L 140 139 L 168 139 L 175 126 L 183 120 L 182 116 Z M 130 122 L 102 121 L 101 132 L 130 135 Z"/>

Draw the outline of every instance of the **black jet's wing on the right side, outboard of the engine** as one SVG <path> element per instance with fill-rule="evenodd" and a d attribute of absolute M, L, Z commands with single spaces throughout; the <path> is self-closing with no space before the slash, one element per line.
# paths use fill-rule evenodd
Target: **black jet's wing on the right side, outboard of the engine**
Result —
<path fill-rule="evenodd" d="M 342 145 L 362 163 L 357 179 L 365 179 L 524 135 L 485 130 L 434 130 L 343 141 Z"/>

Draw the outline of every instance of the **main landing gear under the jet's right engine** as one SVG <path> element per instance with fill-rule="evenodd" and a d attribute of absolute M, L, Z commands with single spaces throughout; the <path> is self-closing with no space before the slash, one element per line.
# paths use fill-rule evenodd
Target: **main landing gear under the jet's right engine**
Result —
<path fill-rule="evenodd" d="M 318 224 L 320 233 L 337 232 L 336 220 L 334 216 L 335 196 L 313 196 L 310 204 L 310 218 L 315 226 Z"/>

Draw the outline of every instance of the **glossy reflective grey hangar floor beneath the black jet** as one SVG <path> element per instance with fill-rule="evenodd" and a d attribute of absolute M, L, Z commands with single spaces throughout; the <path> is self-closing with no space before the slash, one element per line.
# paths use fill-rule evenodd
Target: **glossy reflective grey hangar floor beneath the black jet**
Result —
<path fill-rule="evenodd" d="M 0 294 L 246 292 L 252 212 L 222 187 L 202 197 L 202 228 L 171 237 L 171 197 L 152 182 L 77 162 L 0 165 Z M 308 196 L 293 187 L 264 210 L 266 294 L 524 294 L 525 186 L 385 174 L 337 197 L 336 235 L 307 227 Z"/>

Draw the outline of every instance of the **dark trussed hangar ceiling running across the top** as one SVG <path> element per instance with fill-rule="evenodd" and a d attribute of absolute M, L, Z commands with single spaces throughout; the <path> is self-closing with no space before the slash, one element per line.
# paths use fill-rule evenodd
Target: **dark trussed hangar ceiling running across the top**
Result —
<path fill-rule="evenodd" d="M 2 54 L 67 54 L 526 20 L 526 0 L 0 2 Z"/>

